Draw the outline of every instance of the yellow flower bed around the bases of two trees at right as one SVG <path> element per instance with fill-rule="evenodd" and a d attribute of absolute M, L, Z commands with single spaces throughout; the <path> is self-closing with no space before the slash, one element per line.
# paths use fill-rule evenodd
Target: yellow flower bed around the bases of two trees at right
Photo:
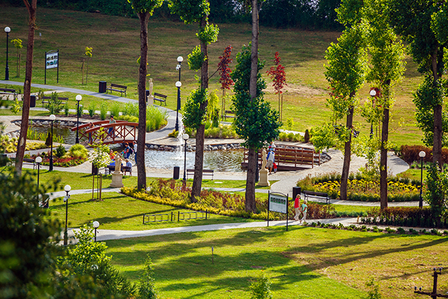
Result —
<path fill-rule="evenodd" d="M 330 176 L 328 180 L 306 178 L 297 182 L 302 190 L 328 193 L 336 199 L 340 196 L 340 177 Z M 419 200 L 419 186 L 407 181 L 388 181 L 388 202 L 407 202 Z M 347 183 L 347 200 L 378 202 L 379 181 L 352 178 Z"/>

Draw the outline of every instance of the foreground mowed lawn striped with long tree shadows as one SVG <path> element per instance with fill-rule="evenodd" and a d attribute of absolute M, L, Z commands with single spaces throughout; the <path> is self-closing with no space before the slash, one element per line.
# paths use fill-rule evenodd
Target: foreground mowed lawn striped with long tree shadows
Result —
<path fill-rule="evenodd" d="M 432 267 L 445 265 L 447 239 L 290 226 L 189 232 L 107 241 L 112 263 L 132 280 L 153 260 L 162 298 L 251 298 L 260 270 L 274 298 L 366 298 L 374 279 L 382 298 L 418 298 Z M 212 260 L 211 249 L 214 249 Z M 440 293 L 447 284 L 440 279 Z"/>

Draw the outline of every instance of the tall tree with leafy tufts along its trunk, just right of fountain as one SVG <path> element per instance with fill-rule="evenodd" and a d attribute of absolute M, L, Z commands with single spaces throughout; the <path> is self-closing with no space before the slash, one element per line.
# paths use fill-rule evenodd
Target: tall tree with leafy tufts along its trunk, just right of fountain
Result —
<path fill-rule="evenodd" d="M 172 13 L 176 13 L 186 23 L 199 22 L 199 32 L 196 34 L 200 40 L 200 50 L 195 48 L 193 53 L 188 55 L 188 66 L 190 69 L 201 70 L 200 91 L 196 92 L 195 102 L 190 108 L 198 109 L 197 113 L 204 116 L 207 112 L 207 89 L 209 88 L 209 55 L 207 46 L 218 40 L 218 26 L 209 24 L 209 1 L 207 0 L 172 0 L 169 4 Z M 198 97 L 201 96 L 201 97 Z M 195 113 L 194 113 L 195 114 Z M 183 122 L 196 128 L 196 151 L 195 151 L 195 175 L 193 176 L 193 187 L 191 189 L 191 200 L 197 202 L 197 197 L 201 195 L 202 169 L 204 168 L 204 118 L 187 119 L 184 116 Z"/>

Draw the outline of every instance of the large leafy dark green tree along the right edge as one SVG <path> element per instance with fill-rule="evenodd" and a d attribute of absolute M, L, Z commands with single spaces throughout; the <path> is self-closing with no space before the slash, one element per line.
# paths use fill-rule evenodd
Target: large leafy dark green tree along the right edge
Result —
<path fill-rule="evenodd" d="M 423 142 L 433 146 L 433 162 L 442 167 L 442 146 L 448 144 L 448 120 L 444 112 L 446 82 L 444 53 L 448 47 L 447 1 L 389 0 L 388 17 L 395 31 L 409 43 L 419 72 L 426 75 L 414 95 L 416 119 Z"/>

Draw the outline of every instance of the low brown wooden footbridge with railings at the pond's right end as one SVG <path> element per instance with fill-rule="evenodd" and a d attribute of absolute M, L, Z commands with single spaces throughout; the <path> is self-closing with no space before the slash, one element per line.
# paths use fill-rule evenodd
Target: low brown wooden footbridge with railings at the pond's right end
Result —
<path fill-rule="evenodd" d="M 258 165 L 261 165 L 261 151 L 258 150 Z M 300 170 L 321 165 L 321 153 L 314 151 L 312 148 L 277 144 L 274 153 L 275 163 L 279 170 Z M 247 165 L 248 151 L 246 150 L 241 167 L 247 168 Z"/>

